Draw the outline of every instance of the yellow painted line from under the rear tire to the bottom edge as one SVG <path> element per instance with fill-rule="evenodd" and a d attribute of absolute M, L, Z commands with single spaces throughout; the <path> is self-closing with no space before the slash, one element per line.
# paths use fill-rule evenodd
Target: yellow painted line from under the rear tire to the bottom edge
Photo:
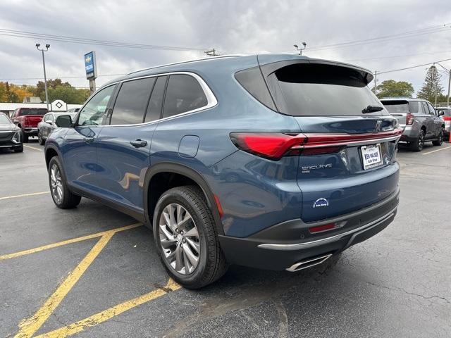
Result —
<path fill-rule="evenodd" d="M 175 283 L 173 280 L 169 280 L 166 284 L 166 287 L 161 289 L 156 289 L 148 294 L 143 294 L 135 299 L 131 299 L 130 301 L 125 301 L 124 303 L 113 306 L 112 308 L 108 308 L 104 311 L 96 313 L 88 318 L 79 320 L 78 322 L 72 323 L 65 327 L 61 327 L 57 330 L 47 332 L 37 336 L 36 338 L 57 338 L 57 337 L 67 337 L 72 334 L 78 333 L 82 330 L 85 330 L 86 327 L 92 327 L 98 325 L 100 323 L 104 323 L 106 320 L 109 320 L 116 315 L 120 315 L 121 313 L 130 310 L 131 308 L 135 308 L 136 306 L 140 306 L 143 303 L 147 303 L 148 301 L 152 301 L 153 299 L 157 299 L 165 294 L 168 291 L 175 291 L 180 289 L 180 285 Z"/>

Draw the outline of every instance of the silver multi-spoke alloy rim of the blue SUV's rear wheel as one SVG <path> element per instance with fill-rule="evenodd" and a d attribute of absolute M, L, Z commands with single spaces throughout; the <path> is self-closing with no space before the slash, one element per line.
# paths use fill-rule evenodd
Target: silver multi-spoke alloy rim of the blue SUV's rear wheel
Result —
<path fill-rule="evenodd" d="M 180 204 L 168 204 L 160 215 L 159 238 L 164 258 L 173 270 L 189 275 L 200 258 L 197 226 L 190 213 Z"/>

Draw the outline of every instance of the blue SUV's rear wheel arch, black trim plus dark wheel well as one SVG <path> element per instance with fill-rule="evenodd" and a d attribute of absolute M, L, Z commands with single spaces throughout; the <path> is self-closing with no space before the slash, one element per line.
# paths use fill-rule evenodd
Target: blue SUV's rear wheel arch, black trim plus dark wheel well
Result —
<path fill-rule="evenodd" d="M 149 223 L 149 225 L 152 225 L 152 215 L 154 213 L 156 201 L 158 201 L 159 197 L 163 193 L 161 189 L 156 189 L 156 194 L 152 196 L 152 184 L 156 184 L 155 181 L 152 181 L 152 178 L 156 178 L 158 177 L 158 175 L 161 174 L 180 175 L 186 177 L 187 182 L 192 181 L 194 184 L 196 184 L 204 193 L 207 206 L 210 208 L 211 213 L 213 214 L 218 234 L 224 234 L 221 217 L 219 215 L 218 207 L 216 206 L 214 194 L 213 192 L 211 192 L 209 184 L 206 182 L 204 177 L 202 177 L 202 175 L 198 173 L 196 170 L 187 167 L 186 165 L 178 163 L 158 163 L 149 168 L 149 170 L 147 170 L 147 173 L 144 178 L 143 206 L 144 206 L 144 217 L 146 218 L 146 222 Z"/>

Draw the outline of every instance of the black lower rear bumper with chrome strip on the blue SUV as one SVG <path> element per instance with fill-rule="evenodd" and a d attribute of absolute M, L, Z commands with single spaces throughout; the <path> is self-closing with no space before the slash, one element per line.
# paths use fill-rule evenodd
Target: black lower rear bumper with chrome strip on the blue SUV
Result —
<path fill-rule="evenodd" d="M 266 270 L 288 270 L 300 261 L 339 253 L 381 232 L 395 218 L 399 194 L 398 189 L 378 204 L 338 218 L 316 223 L 291 220 L 273 225 L 250 237 L 219 236 L 219 240 L 229 263 Z M 299 238 L 299 234 L 309 227 L 344 220 L 346 225 L 340 230 L 293 240 Z"/>

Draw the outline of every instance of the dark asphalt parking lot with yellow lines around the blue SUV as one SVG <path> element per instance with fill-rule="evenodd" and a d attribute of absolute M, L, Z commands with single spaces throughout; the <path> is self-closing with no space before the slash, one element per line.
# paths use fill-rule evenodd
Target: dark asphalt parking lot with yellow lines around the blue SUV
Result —
<path fill-rule="evenodd" d="M 449 143 L 400 149 L 395 222 L 333 270 L 233 266 L 197 291 L 127 215 L 56 208 L 43 148 L 0 154 L 0 337 L 451 337 Z"/>

